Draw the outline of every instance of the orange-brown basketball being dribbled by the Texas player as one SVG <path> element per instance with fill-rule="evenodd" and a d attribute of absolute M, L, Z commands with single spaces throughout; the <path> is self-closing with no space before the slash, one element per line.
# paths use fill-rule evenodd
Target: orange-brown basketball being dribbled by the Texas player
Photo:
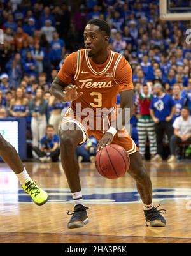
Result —
<path fill-rule="evenodd" d="M 103 177 L 117 179 L 129 169 L 130 158 L 123 147 L 110 144 L 96 154 L 95 165 Z"/>

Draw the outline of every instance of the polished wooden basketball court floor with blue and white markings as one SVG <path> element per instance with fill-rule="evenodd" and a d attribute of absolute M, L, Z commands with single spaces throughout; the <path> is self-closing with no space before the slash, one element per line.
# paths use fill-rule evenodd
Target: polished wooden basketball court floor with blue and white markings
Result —
<path fill-rule="evenodd" d="M 94 163 L 81 164 L 81 185 L 90 223 L 67 229 L 73 210 L 60 163 L 25 163 L 50 199 L 36 206 L 15 174 L 0 163 L 0 243 L 191 243 L 191 163 L 145 162 L 155 206 L 166 209 L 166 227 L 146 227 L 133 179 L 104 179 Z"/>

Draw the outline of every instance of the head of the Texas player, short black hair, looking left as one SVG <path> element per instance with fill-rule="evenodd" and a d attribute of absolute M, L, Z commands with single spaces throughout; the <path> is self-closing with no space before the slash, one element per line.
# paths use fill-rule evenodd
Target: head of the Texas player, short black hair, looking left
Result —
<path fill-rule="evenodd" d="M 87 22 L 83 34 L 88 56 L 94 57 L 107 49 L 111 29 L 106 21 L 92 19 Z"/>

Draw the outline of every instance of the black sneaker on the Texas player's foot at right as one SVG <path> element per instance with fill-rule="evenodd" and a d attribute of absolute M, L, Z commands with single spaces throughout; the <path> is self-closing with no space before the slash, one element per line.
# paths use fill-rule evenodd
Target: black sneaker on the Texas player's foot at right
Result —
<path fill-rule="evenodd" d="M 150 222 L 150 225 L 152 227 L 164 227 L 166 225 L 165 218 L 160 214 L 160 213 L 166 213 L 166 210 L 165 209 L 157 210 L 159 206 L 157 206 L 156 208 L 153 207 L 149 211 L 144 211 L 145 218 L 146 218 L 146 226 L 148 226 L 147 222 Z"/>

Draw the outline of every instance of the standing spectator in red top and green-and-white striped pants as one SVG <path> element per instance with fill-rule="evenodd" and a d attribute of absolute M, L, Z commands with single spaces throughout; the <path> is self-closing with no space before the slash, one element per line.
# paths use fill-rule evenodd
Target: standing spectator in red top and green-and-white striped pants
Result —
<path fill-rule="evenodd" d="M 153 95 L 151 93 L 151 87 L 147 84 L 143 85 L 143 90 L 139 94 L 139 106 L 140 106 L 140 118 L 138 119 L 138 141 L 139 151 L 141 156 L 145 156 L 146 139 L 148 137 L 150 143 L 150 154 L 153 158 L 157 154 L 157 141 L 155 133 L 155 123 L 153 123 L 150 116 L 150 104 L 152 102 Z"/>

